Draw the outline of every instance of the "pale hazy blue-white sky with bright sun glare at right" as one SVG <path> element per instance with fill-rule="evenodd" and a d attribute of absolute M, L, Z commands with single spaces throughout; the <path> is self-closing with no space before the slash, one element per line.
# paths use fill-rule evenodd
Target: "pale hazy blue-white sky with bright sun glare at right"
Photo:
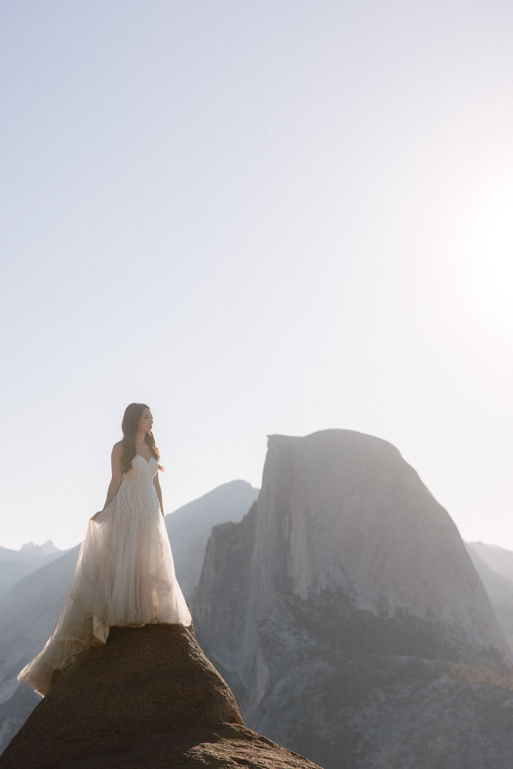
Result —
<path fill-rule="evenodd" d="M 78 543 L 125 406 L 165 511 L 266 435 L 395 444 L 513 549 L 511 2 L 0 4 L 0 545 Z"/>

